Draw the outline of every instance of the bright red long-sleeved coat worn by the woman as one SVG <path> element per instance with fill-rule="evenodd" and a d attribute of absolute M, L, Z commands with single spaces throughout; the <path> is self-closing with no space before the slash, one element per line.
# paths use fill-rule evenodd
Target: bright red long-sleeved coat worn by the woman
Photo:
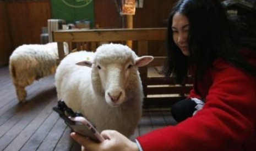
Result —
<path fill-rule="evenodd" d="M 146 150 L 256 150 L 256 78 L 218 59 L 191 97 L 205 105 L 192 118 L 137 138 Z"/>

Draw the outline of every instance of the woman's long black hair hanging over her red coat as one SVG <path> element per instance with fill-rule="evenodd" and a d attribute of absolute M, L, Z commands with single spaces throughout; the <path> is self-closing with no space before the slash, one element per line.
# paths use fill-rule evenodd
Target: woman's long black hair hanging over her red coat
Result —
<path fill-rule="evenodd" d="M 184 56 L 173 41 L 172 18 L 176 13 L 187 16 L 189 21 L 189 56 Z M 175 75 L 178 83 L 186 79 L 189 65 L 196 66 L 195 74 L 200 78 L 217 58 L 256 75 L 256 67 L 241 55 L 242 48 L 256 53 L 256 34 L 248 34 L 248 26 L 243 20 L 229 18 L 219 0 L 178 1 L 168 20 L 166 42 L 168 51 L 164 73 L 166 76 Z"/>

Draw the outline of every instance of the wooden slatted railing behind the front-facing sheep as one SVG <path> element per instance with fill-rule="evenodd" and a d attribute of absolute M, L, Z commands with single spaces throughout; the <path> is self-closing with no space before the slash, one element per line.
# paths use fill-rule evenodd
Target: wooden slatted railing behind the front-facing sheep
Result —
<path fill-rule="evenodd" d="M 149 43 L 163 42 L 166 38 L 166 28 L 118 28 L 99 30 L 67 30 L 53 32 L 53 40 L 58 43 L 59 60 L 64 57 L 63 42 L 69 43 L 69 53 L 76 50 L 95 51 L 97 46 L 106 42 L 126 44 L 132 40 L 132 49 L 141 55 L 151 55 Z M 165 56 L 154 56 L 155 59 L 147 67 L 140 68 L 144 90 L 144 108 L 171 107 L 173 103 L 184 99 L 192 88 L 192 78 L 188 77 L 186 84 L 177 85 L 174 78 L 164 78 L 158 74 L 157 68 L 164 65 Z"/>

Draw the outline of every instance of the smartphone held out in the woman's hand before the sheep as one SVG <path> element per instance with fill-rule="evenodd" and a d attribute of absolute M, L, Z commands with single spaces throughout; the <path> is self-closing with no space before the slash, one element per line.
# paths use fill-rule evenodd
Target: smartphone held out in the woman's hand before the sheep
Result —
<path fill-rule="evenodd" d="M 53 111 L 59 114 L 59 117 L 64 120 L 72 131 L 89 137 L 95 142 L 103 142 L 105 140 L 90 121 L 83 117 L 83 115 L 73 112 L 72 109 L 66 106 L 63 100 L 58 101 L 58 105 L 53 107 Z"/>

